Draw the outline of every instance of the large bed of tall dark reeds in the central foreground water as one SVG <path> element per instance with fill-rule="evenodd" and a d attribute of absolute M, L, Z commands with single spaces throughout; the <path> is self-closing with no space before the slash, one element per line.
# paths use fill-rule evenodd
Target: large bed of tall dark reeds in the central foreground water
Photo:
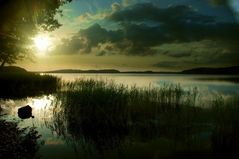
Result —
<path fill-rule="evenodd" d="M 128 138 L 190 144 L 212 129 L 209 109 L 195 104 L 196 88 L 185 91 L 179 84 L 138 88 L 93 79 L 66 82 L 61 88 L 54 129 L 97 149 L 120 145 Z"/>

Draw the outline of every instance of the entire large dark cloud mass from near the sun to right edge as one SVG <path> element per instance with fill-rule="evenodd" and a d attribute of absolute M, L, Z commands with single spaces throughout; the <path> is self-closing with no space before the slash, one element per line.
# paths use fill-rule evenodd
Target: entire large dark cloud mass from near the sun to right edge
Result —
<path fill-rule="evenodd" d="M 64 52 L 91 53 L 98 49 L 99 56 L 114 52 L 126 55 L 161 53 L 171 57 L 187 57 L 191 56 L 191 52 L 159 52 L 155 47 L 202 40 L 220 41 L 220 45 L 230 53 L 239 51 L 238 24 L 217 22 L 213 17 L 202 15 L 188 6 L 162 9 L 151 3 L 141 3 L 115 10 L 105 20 L 118 23 L 120 27 L 117 30 L 107 30 L 94 24 L 80 30 L 62 44 Z M 103 44 L 107 47 L 102 47 Z"/>

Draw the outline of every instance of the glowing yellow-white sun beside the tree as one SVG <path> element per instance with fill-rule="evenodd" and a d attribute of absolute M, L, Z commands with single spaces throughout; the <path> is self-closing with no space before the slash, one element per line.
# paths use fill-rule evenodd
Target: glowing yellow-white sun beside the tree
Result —
<path fill-rule="evenodd" d="M 44 54 L 52 45 L 51 39 L 47 34 L 38 34 L 33 38 L 38 53 Z"/>

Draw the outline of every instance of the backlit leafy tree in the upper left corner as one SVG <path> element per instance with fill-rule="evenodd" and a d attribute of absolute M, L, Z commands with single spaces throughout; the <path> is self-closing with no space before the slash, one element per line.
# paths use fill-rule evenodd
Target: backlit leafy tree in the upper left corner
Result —
<path fill-rule="evenodd" d="M 13 64 L 29 55 L 31 38 L 39 30 L 53 31 L 61 24 L 60 6 L 72 0 L 0 0 L 0 62 Z"/>

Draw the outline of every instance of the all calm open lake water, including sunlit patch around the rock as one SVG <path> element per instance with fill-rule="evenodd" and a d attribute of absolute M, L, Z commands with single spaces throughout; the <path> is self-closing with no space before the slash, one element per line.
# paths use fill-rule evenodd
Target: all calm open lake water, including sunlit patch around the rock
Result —
<path fill-rule="evenodd" d="M 156 74 L 53 74 L 66 81 L 73 81 L 77 78 L 114 80 L 118 84 L 138 87 L 160 87 L 165 84 L 180 84 L 183 89 L 197 87 L 201 98 L 212 97 L 213 95 L 231 96 L 239 94 L 238 76 L 201 76 L 201 75 L 156 75 Z M 33 107 L 34 119 L 20 120 L 17 117 L 17 109 L 24 105 Z M 45 144 L 40 149 L 42 158 L 77 158 L 76 147 L 64 138 L 59 137 L 52 122 L 53 107 L 56 103 L 53 95 L 23 100 L 0 100 L 7 118 L 19 121 L 20 127 L 36 126 L 42 135 Z M 77 151 L 81 151 L 78 148 Z M 82 151 L 84 154 L 84 152 Z M 80 156 L 82 157 L 82 156 Z M 84 157 L 84 155 L 83 155 Z"/>

